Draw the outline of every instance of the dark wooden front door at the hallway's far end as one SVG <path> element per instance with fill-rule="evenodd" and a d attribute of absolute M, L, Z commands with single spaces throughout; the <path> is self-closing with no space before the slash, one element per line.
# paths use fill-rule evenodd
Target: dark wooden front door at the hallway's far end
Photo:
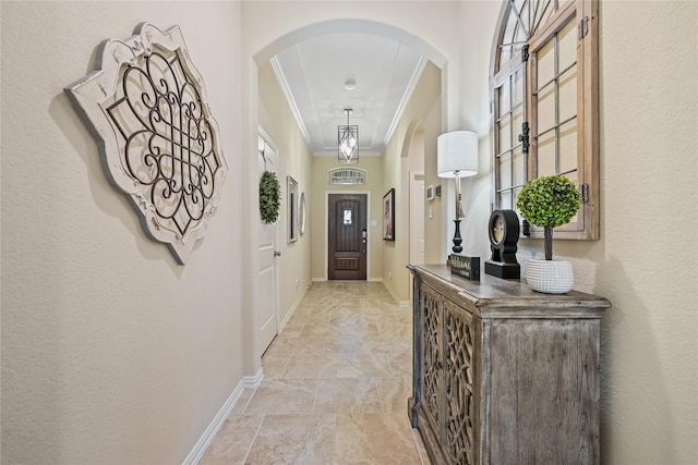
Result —
<path fill-rule="evenodd" d="M 329 194 L 329 280 L 366 279 L 366 194 Z"/>

